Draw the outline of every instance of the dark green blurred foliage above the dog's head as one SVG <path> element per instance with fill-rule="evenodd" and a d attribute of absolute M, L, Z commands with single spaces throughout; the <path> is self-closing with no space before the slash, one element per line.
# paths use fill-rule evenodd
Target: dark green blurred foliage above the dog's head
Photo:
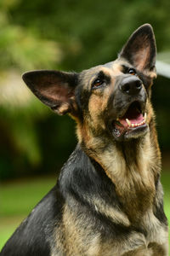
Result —
<path fill-rule="evenodd" d="M 37 0 L 20 1 L 10 14 L 15 24 L 60 43 L 65 53 L 61 67 L 82 70 L 113 60 L 129 34 L 145 22 L 154 26 L 159 50 L 169 49 L 169 9 L 168 0 Z"/>

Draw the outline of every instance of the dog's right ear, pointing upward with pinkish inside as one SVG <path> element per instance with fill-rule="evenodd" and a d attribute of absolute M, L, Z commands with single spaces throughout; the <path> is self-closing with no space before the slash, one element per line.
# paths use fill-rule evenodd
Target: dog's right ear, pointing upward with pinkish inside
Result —
<path fill-rule="evenodd" d="M 156 40 L 150 24 L 140 26 L 127 40 L 120 57 L 126 59 L 140 72 L 156 77 Z"/>

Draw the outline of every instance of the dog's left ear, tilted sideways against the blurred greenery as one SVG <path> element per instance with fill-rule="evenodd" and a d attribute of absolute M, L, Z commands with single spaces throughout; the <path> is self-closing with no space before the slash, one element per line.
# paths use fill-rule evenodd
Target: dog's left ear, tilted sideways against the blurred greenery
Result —
<path fill-rule="evenodd" d="M 48 107 L 59 114 L 76 113 L 75 88 L 77 73 L 37 70 L 23 74 L 31 91 Z"/>

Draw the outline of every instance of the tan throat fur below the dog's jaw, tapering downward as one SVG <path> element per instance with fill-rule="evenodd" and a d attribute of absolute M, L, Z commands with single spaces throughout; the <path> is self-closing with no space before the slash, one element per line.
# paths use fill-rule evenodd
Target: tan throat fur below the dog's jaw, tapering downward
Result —
<path fill-rule="evenodd" d="M 150 134 L 148 134 L 147 137 L 149 136 Z M 122 157 L 122 153 L 116 150 L 114 144 L 112 144 L 108 150 L 105 150 L 105 152 L 100 152 L 99 148 L 101 147 L 101 142 L 97 142 L 97 140 L 98 139 L 95 141 L 93 138 L 90 142 L 93 143 L 93 149 L 95 143 L 95 160 L 103 166 L 107 175 L 116 184 L 116 191 L 122 197 L 122 201 L 124 201 L 124 199 L 128 201 L 128 212 L 131 212 L 133 218 L 135 218 L 135 212 L 142 214 L 142 201 L 140 196 L 144 197 L 144 195 L 148 195 L 148 193 L 151 192 L 152 196 L 148 199 L 148 202 L 144 200 L 144 207 L 147 207 L 147 204 L 152 204 L 155 195 L 155 173 L 149 172 L 151 168 L 154 170 L 154 149 L 150 147 L 150 141 L 148 142 L 148 138 L 146 138 L 144 146 L 139 148 L 137 163 L 132 162 L 131 166 L 127 166 L 126 161 Z M 90 143 L 88 143 L 88 148 L 92 148 Z M 94 150 L 92 156 L 94 156 Z M 135 202 L 135 204 L 139 202 L 139 206 L 133 205 L 133 202 Z"/>

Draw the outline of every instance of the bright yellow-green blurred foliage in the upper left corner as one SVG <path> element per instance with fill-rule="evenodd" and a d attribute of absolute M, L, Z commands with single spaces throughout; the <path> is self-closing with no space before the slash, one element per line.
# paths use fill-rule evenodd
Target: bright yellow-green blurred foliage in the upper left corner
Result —
<path fill-rule="evenodd" d="M 17 4 L 17 0 L 0 3 L 0 70 L 40 68 L 59 61 L 61 52 L 54 41 L 39 38 L 38 34 L 14 24 L 9 10 L 16 8 Z"/>

